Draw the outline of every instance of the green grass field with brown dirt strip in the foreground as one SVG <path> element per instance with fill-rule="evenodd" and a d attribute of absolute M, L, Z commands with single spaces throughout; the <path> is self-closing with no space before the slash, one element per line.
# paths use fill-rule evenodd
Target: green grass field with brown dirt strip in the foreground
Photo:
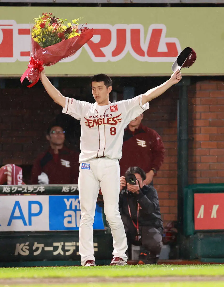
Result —
<path fill-rule="evenodd" d="M 0 286 L 224 286 L 224 265 L 126 265 L 0 268 Z"/>

